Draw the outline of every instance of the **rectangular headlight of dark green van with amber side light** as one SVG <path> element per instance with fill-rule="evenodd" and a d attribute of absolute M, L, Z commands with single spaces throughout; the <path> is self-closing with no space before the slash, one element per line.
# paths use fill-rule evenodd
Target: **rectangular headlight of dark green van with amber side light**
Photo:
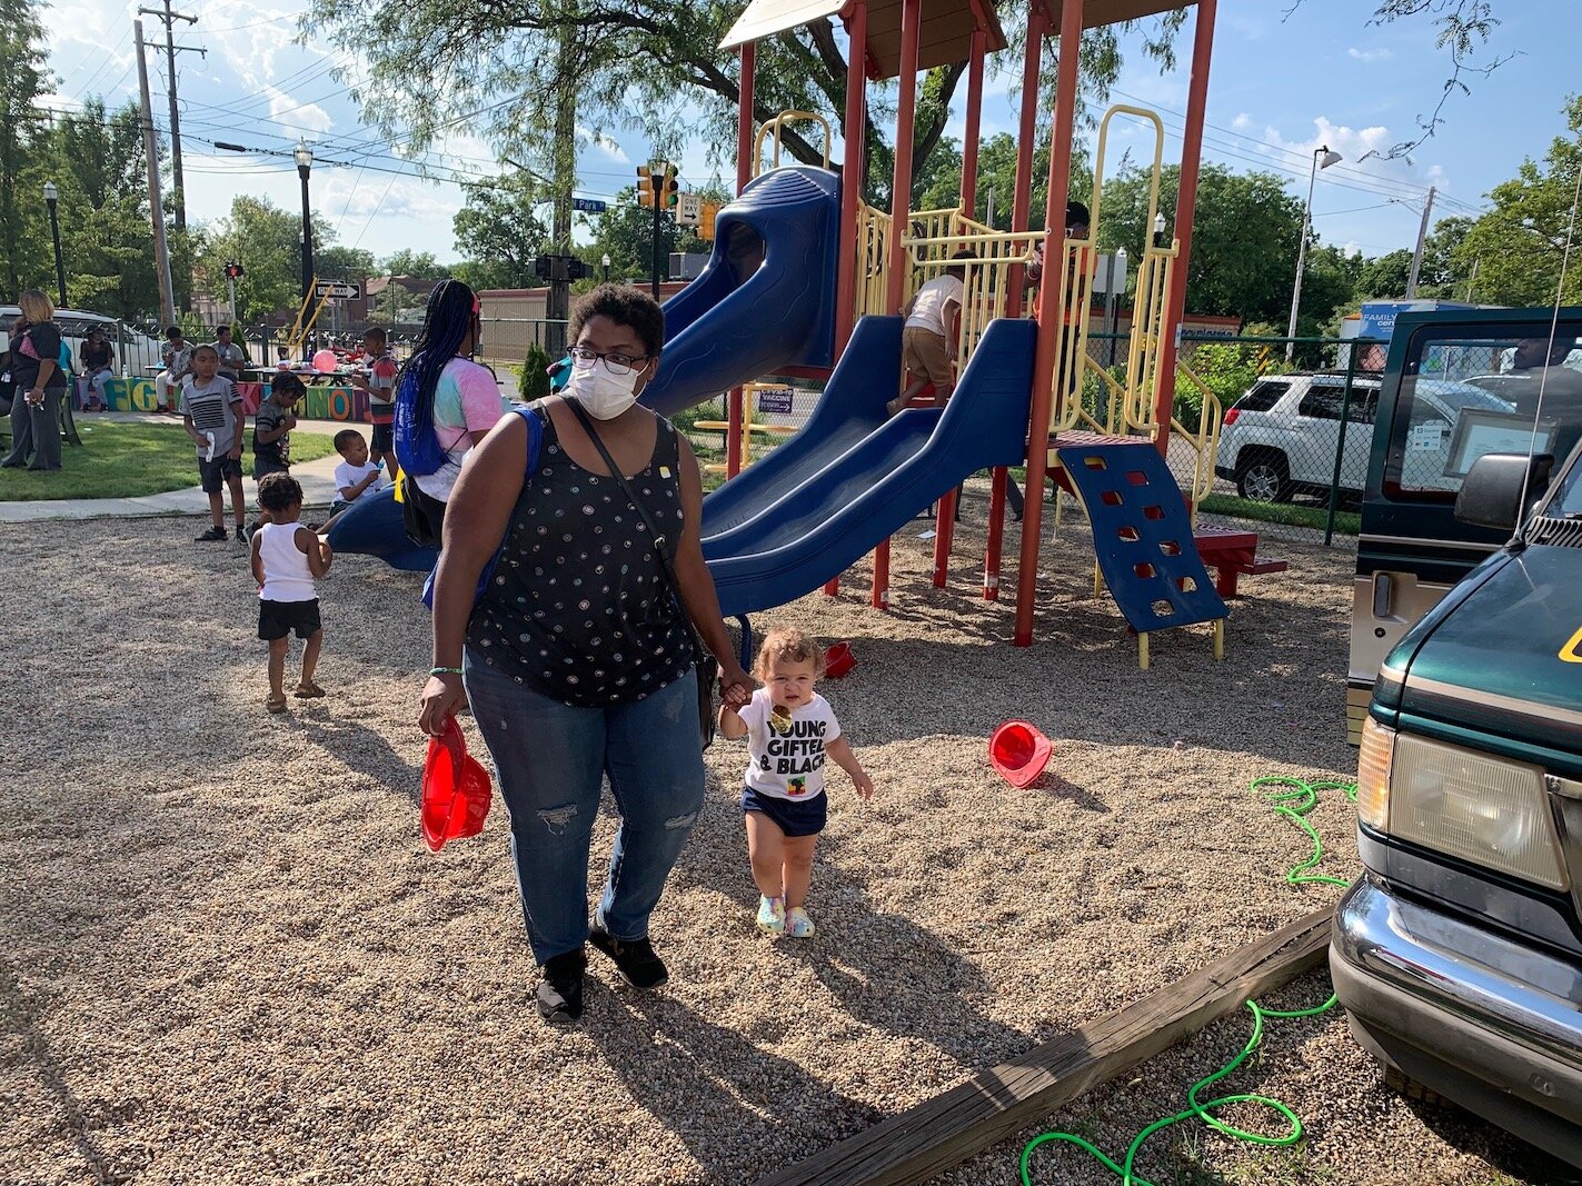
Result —
<path fill-rule="evenodd" d="M 1384 811 L 1391 835 L 1539 886 L 1568 887 L 1541 767 L 1413 734 L 1394 740 Z M 1364 732 L 1364 764 L 1367 743 Z M 1359 811 L 1362 786 L 1359 772 Z"/>

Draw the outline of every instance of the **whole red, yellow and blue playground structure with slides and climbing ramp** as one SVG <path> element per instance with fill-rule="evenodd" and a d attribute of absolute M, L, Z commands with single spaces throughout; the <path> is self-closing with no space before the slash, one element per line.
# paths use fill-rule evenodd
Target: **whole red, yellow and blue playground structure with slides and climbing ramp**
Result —
<path fill-rule="evenodd" d="M 1033 149 L 1038 130 L 1044 41 L 1058 32 L 1076 46 L 1085 27 L 1166 11 L 1168 0 L 1035 0 L 1022 68 L 1017 182 L 1011 231 L 997 231 L 976 210 L 978 141 L 986 57 L 1006 47 L 992 6 L 978 0 L 751 0 L 721 43 L 740 55 L 737 198 L 715 221 L 715 247 L 702 274 L 664 305 L 666 346 L 642 402 L 674 414 L 726 395 L 729 481 L 704 501 L 704 555 L 721 609 L 744 617 L 837 580 L 873 553 L 870 601 L 889 601 L 889 538 L 937 506 L 933 584 L 946 584 L 956 490 L 981 471 L 992 476 L 982 596 L 995 599 L 1005 541 L 1006 470 L 1027 466 L 1033 493 L 1046 481 L 1060 498 L 1079 497 L 1096 533 L 1106 588 L 1139 637 L 1147 666 L 1153 629 L 1217 621 L 1223 650 L 1224 602 L 1239 572 L 1267 571 L 1255 560 L 1256 536 L 1194 533 L 1196 503 L 1213 482 L 1220 408 L 1204 391 L 1196 433 L 1172 421 L 1175 335 L 1185 305 L 1180 274 L 1191 244 L 1198 155 L 1213 38 L 1215 0 L 1199 0 L 1191 55 L 1175 232 L 1141 253 L 1123 378 L 1088 354 L 1088 313 L 1098 264 L 1104 164 L 1117 119 L 1152 130 L 1147 223 L 1160 213 L 1164 131 L 1153 112 L 1111 108 L 1098 125 L 1096 163 L 1084 239 L 1047 242 L 1041 299 L 1024 308 L 1031 248 L 1049 239 L 1028 228 Z M 862 196 L 862 141 L 842 142 L 838 172 L 832 130 L 813 112 L 786 111 L 759 120 L 753 101 L 755 46 L 778 32 L 840 16 L 850 60 L 843 127 L 865 127 L 867 82 L 899 77 L 897 134 L 889 212 Z M 967 134 L 960 202 L 952 209 L 908 207 L 918 71 L 967 65 Z M 1063 212 L 1076 119 L 1076 70 L 1055 79 L 1052 155 L 1046 209 Z M 818 164 L 782 164 L 793 123 L 823 133 Z M 884 403 L 903 386 L 900 312 L 916 288 L 938 275 L 959 250 L 965 300 L 957 346 L 959 383 L 949 405 L 911 408 L 889 419 Z M 750 395 L 764 376 L 824 381 L 812 417 L 794 436 L 744 470 L 751 424 Z M 1191 381 L 1190 373 L 1186 375 Z M 1098 392 L 1084 405 L 1084 389 Z M 1182 492 L 1164 463 L 1172 430 L 1194 451 L 1191 489 Z M 1144 457 L 1144 454 L 1153 454 Z M 1081 471 L 1073 468 L 1073 459 Z M 1099 478 L 1122 479 L 1126 489 Z M 1103 503 L 1095 500 L 1103 498 Z M 1030 645 L 1043 544 L 1043 498 L 1030 497 L 1017 574 L 1016 645 Z M 383 516 L 375 527 L 375 516 Z M 362 519 L 365 523 L 359 523 Z M 1057 519 L 1058 522 L 1058 519 Z M 421 566 L 405 542 L 380 541 L 399 523 L 391 508 L 361 509 L 337 523 L 339 550 L 373 550 L 391 563 Z M 365 527 L 372 530 L 364 530 Z M 1123 546 L 1122 546 L 1123 544 Z M 1229 550 L 1228 550 L 1229 549 Z M 432 552 L 427 553 L 432 558 Z M 1220 572 L 1218 590 L 1205 563 Z"/>

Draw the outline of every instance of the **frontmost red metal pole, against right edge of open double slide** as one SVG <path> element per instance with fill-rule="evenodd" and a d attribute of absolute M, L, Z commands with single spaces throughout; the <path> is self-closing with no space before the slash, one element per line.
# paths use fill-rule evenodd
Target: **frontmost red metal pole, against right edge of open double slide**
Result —
<path fill-rule="evenodd" d="M 1016 574 L 1017 647 L 1033 645 L 1033 612 L 1038 598 L 1038 544 L 1044 517 L 1044 474 L 1049 457 L 1049 414 L 1054 405 L 1055 334 L 1066 308 L 1065 210 L 1071 185 L 1071 125 L 1077 106 L 1077 46 L 1082 41 L 1082 0 L 1060 8 L 1060 73 L 1055 76 L 1055 134 L 1049 150 L 1049 199 L 1052 223 L 1062 228 L 1044 250 L 1047 297 L 1039 302 L 1038 348 L 1033 351 L 1033 416 L 1027 440 L 1027 506 L 1022 512 L 1022 552 Z"/>

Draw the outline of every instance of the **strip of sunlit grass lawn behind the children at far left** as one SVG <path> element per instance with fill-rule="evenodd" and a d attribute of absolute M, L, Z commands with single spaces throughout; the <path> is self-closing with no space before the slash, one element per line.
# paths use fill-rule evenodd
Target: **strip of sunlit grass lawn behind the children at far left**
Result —
<path fill-rule="evenodd" d="M 198 485 L 193 443 L 179 424 L 93 424 L 78 419 L 82 448 L 62 443 L 55 473 L 0 470 L 0 503 L 52 498 L 138 498 Z M 242 465 L 252 465 L 252 429 Z M 334 451 L 331 433 L 291 433 L 291 460 L 312 462 Z"/>

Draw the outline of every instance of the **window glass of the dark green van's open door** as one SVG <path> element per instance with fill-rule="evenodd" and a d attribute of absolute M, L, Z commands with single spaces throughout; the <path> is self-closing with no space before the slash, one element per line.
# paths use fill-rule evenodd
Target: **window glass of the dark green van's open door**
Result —
<path fill-rule="evenodd" d="M 1489 452 L 1563 460 L 1582 438 L 1582 324 L 1424 326 L 1411 337 L 1384 466 L 1392 498 L 1448 501 Z M 1579 508 L 1582 509 L 1582 508 Z"/>

